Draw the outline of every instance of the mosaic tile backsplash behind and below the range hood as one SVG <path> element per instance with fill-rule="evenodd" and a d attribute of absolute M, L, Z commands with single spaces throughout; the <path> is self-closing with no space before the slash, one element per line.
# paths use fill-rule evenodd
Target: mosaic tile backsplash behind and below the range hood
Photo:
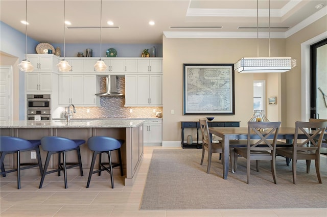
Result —
<path fill-rule="evenodd" d="M 117 90 L 125 94 L 125 77 L 118 77 Z M 100 92 L 106 91 L 106 78 L 100 78 Z M 124 107 L 122 96 L 100 97 L 100 107 L 76 107 L 73 118 L 155 118 L 162 107 Z M 130 110 L 133 112 L 130 113 Z M 155 110 L 155 112 L 153 112 Z M 89 113 L 87 113 L 89 111 Z"/>

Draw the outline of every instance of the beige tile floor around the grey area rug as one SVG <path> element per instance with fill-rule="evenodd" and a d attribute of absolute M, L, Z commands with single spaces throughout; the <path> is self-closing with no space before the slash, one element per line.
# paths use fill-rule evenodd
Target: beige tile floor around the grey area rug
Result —
<path fill-rule="evenodd" d="M 124 186 L 118 170 L 115 170 L 114 189 L 106 172 L 93 175 L 90 187 L 86 188 L 88 171 L 81 177 L 69 175 L 68 170 L 67 189 L 63 176 L 46 175 L 39 189 L 39 176 L 23 174 L 19 190 L 15 174 L 7 174 L 0 179 L 0 216 L 327 216 L 327 209 L 139 210 L 153 149 L 164 148 L 144 147 L 132 187 Z"/>

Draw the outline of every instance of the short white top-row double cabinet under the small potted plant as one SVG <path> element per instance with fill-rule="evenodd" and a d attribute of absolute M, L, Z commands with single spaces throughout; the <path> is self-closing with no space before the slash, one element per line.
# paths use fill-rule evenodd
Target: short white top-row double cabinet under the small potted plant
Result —
<path fill-rule="evenodd" d="M 137 60 L 137 72 L 162 73 L 162 59 L 144 58 Z"/>

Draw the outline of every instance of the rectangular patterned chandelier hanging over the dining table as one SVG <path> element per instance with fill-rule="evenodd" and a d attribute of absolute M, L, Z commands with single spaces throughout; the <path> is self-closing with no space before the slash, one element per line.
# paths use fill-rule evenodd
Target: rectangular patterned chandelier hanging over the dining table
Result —
<path fill-rule="evenodd" d="M 259 13 L 256 0 L 256 34 L 258 39 L 258 57 L 242 58 L 234 64 L 235 71 L 239 73 L 267 73 L 267 72 L 287 72 L 296 66 L 296 59 L 291 57 L 270 57 L 270 0 L 268 1 L 269 11 L 269 57 L 259 57 Z"/>

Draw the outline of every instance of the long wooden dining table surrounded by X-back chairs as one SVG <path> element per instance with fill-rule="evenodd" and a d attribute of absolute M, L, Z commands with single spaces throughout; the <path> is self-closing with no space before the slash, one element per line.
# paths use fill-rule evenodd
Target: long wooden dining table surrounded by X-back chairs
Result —
<path fill-rule="evenodd" d="M 228 160 L 229 160 L 229 144 L 230 141 L 234 143 L 237 140 L 247 140 L 248 128 L 247 127 L 209 127 L 209 133 L 216 135 L 222 139 L 222 164 L 223 164 L 223 177 L 227 179 L 228 175 Z M 286 140 L 286 143 L 292 143 L 295 134 L 295 127 L 279 127 L 277 139 Z M 327 137 L 325 133 L 324 138 Z M 306 136 L 302 131 L 298 131 L 298 139 L 305 139 Z M 251 140 L 261 139 L 254 131 L 251 132 Z M 273 134 L 268 137 L 273 139 Z M 235 141 L 234 141 L 235 140 Z"/>

